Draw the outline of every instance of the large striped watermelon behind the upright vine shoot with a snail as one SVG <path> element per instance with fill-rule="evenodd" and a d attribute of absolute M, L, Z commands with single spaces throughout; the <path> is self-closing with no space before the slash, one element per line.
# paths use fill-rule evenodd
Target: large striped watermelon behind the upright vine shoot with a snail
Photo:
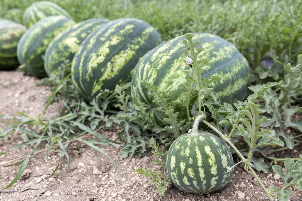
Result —
<path fill-rule="evenodd" d="M 201 76 L 203 78 L 211 75 L 221 76 L 211 87 L 218 93 L 222 102 L 235 103 L 245 98 L 250 69 L 244 56 L 232 44 L 216 35 L 195 33 L 194 38 L 200 41 L 197 46 L 204 49 L 198 58 L 210 60 Z M 133 71 L 131 88 L 133 103 L 136 103 L 136 100 L 144 103 L 145 110 L 158 125 L 165 125 L 163 122 L 166 117 L 165 111 L 160 110 L 153 102 L 153 96 L 148 95 L 148 90 L 141 80 L 158 86 L 160 95 L 167 96 L 168 104 L 185 100 L 187 90 L 182 86 L 189 82 L 184 73 L 189 66 L 183 62 L 186 57 L 182 52 L 185 48 L 182 43 L 184 39 L 184 36 L 177 37 L 149 51 Z M 190 108 L 196 102 L 197 96 L 197 93 L 191 93 Z M 140 110 L 138 105 L 135 108 Z M 179 112 L 180 119 L 187 119 L 186 111 L 185 104 L 178 104 L 174 108 L 174 112 Z"/>

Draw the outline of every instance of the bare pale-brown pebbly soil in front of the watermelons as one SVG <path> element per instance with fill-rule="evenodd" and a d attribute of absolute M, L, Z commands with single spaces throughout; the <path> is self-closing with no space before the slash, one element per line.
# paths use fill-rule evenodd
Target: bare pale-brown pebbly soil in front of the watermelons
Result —
<path fill-rule="evenodd" d="M 16 116 L 18 111 L 33 117 L 41 114 L 45 99 L 51 92 L 46 87 L 35 86 L 35 82 L 35 78 L 24 76 L 20 72 L 0 72 L 0 115 Z M 51 105 L 48 114 L 59 106 L 59 103 Z M 0 120 L 0 128 L 6 128 L 5 122 L 8 120 Z M 102 131 L 102 134 L 116 138 L 116 134 L 112 132 Z M 0 156 L 0 189 L 10 183 L 18 170 L 16 166 L 4 167 L 2 164 L 30 152 L 29 148 L 12 150 L 20 142 L 21 138 L 15 139 L 12 144 L 0 141 L 0 152 L 7 152 Z M 241 168 L 235 168 L 230 185 L 216 193 L 192 195 L 170 187 L 165 197 L 159 197 L 150 180 L 135 172 L 137 168 L 156 169 L 150 158 L 134 156 L 120 159 L 119 148 L 101 148 L 117 162 L 123 169 L 122 172 L 99 152 L 73 143 L 69 145 L 68 151 L 69 171 L 67 161 L 63 158 L 57 173 L 45 181 L 57 165 L 59 152 L 52 152 L 47 156 L 37 155 L 31 159 L 19 181 L 8 189 L 16 192 L 0 192 L 0 200 L 268 200 L 253 176 Z M 297 157 L 299 154 L 296 152 L 288 157 Z M 281 180 L 272 172 L 259 173 L 259 176 L 266 186 L 281 184 Z M 302 200 L 301 192 L 295 192 L 296 196 L 291 200 Z"/>

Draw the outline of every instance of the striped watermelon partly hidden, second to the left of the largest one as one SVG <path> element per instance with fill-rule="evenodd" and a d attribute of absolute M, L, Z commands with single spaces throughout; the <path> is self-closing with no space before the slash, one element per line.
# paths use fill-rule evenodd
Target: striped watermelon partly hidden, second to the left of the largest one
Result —
<path fill-rule="evenodd" d="M 49 76 L 54 70 L 57 70 L 65 60 L 70 61 L 66 64 L 65 72 L 65 74 L 69 74 L 72 59 L 84 39 L 107 22 L 109 22 L 107 19 L 89 19 L 72 25 L 57 35 L 45 52 L 44 67 L 47 75 Z"/>

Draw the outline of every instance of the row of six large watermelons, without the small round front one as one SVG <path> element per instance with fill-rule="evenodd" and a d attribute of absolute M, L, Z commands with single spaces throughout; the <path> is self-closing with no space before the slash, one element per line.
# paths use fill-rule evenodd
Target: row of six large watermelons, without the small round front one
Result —
<path fill-rule="evenodd" d="M 186 98 L 186 91 L 181 87 L 187 82 L 183 73 L 187 66 L 182 62 L 184 36 L 159 45 L 158 32 L 146 22 L 132 18 L 89 19 L 75 24 L 65 10 L 49 2 L 36 2 L 25 11 L 27 31 L 22 25 L 2 22 L 1 69 L 16 66 L 16 54 L 26 71 L 36 77 L 49 76 L 65 64 L 67 71 L 62 73 L 73 72 L 75 88 L 86 97 L 95 97 L 101 89 L 112 90 L 116 84 L 125 84 L 132 77 L 134 103 L 143 102 L 150 117 L 159 125 L 165 124 L 165 111 L 153 103 L 153 97 L 140 81 L 159 86 L 159 92 L 168 102 Z M 200 58 L 211 61 L 202 76 L 221 76 L 212 87 L 222 101 L 234 103 L 242 99 L 250 75 L 246 59 L 218 36 L 196 33 L 195 37 L 205 50 L 199 54 Z M 190 106 L 197 99 L 196 94 L 191 95 Z M 139 106 L 135 107 L 139 110 Z M 182 106 L 175 111 L 179 112 L 180 119 L 186 118 L 186 109 Z"/>

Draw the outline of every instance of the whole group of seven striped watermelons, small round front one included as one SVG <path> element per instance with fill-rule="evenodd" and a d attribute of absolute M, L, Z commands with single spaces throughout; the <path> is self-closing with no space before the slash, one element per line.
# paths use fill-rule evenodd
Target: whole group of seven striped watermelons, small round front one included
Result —
<path fill-rule="evenodd" d="M 2 22 L 5 29 L 0 29 L 1 69 L 16 66 L 19 61 L 36 77 L 55 71 L 71 72 L 75 88 L 86 98 L 132 80 L 133 103 L 142 102 L 159 125 L 165 125 L 166 111 L 157 107 L 141 80 L 158 86 L 167 104 L 188 98 L 182 87 L 188 81 L 184 70 L 189 68 L 183 63 L 184 36 L 160 44 L 161 37 L 155 28 L 133 18 L 89 19 L 75 24 L 65 10 L 49 2 L 34 3 L 26 10 L 27 31 L 22 25 Z M 204 49 L 198 57 L 211 61 L 204 67 L 202 77 L 221 76 L 211 86 L 222 101 L 234 103 L 243 99 L 250 76 L 247 60 L 218 36 L 195 33 L 194 37 Z M 62 65 L 66 72 L 60 72 Z M 196 93 L 189 98 L 192 107 Z M 183 105 L 174 108 L 179 119 L 187 119 Z M 135 108 L 140 110 L 138 105 Z M 170 147 L 167 171 L 175 186 L 183 191 L 216 191 L 229 183 L 232 172 L 227 167 L 233 166 L 233 160 L 229 148 L 219 138 L 208 133 L 199 135 L 197 123 L 192 134 L 181 136 Z"/>

